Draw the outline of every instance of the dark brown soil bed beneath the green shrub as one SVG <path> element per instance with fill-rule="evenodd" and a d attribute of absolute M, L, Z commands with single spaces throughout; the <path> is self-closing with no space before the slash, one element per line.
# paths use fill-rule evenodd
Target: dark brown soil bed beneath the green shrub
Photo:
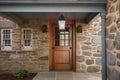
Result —
<path fill-rule="evenodd" d="M 32 80 L 36 74 L 30 74 L 27 78 L 16 78 L 12 74 L 0 74 L 0 80 Z"/>

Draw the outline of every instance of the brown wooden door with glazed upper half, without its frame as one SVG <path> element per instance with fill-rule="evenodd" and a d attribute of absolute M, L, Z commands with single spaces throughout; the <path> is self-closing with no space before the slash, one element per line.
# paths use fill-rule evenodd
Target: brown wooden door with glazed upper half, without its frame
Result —
<path fill-rule="evenodd" d="M 66 25 L 65 30 L 53 28 L 53 68 L 54 70 L 72 69 L 72 25 Z"/>

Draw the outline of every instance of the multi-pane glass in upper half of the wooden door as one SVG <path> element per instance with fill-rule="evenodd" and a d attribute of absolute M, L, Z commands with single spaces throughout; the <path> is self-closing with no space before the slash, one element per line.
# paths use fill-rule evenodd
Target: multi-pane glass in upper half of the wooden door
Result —
<path fill-rule="evenodd" d="M 55 28 L 55 46 L 70 46 L 70 28 L 66 27 L 65 30 Z"/>

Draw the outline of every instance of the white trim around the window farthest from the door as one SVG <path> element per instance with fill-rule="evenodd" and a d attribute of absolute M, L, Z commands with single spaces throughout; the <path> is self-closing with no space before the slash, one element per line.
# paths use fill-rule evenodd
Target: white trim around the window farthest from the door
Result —
<path fill-rule="evenodd" d="M 5 46 L 4 45 L 4 41 L 3 41 L 3 31 L 4 30 L 10 30 L 10 39 L 11 39 L 11 46 Z M 12 29 L 1 29 L 1 51 L 11 51 L 12 50 L 12 45 L 13 45 L 13 43 L 12 43 L 12 41 L 13 41 L 13 39 L 12 39 Z"/>

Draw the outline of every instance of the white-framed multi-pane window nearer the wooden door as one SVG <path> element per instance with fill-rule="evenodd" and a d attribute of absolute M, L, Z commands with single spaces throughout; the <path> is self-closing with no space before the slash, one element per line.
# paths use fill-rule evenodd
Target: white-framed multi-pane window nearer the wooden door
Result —
<path fill-rule="evenodd" d="M 22 30 L 22 45 L 23 50 L 32 50 L 32 29 L 24 28 Z"/>

